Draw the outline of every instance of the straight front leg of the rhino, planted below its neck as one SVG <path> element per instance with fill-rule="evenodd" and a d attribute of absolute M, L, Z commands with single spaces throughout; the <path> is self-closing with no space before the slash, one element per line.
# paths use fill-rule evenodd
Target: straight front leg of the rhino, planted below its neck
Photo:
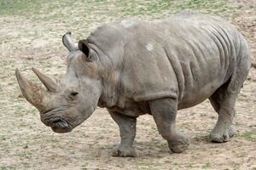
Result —
<path fill-rule="evenodd" d="M 133 149 L 132 144 L 136 135 L 136 117 L 121 115 L 117 112 L 109 111 L 119 126 L 121 142 L 119 146 L 113 150 L 113 156 L 120 157 L 136 157 L 136 151 Z"/>

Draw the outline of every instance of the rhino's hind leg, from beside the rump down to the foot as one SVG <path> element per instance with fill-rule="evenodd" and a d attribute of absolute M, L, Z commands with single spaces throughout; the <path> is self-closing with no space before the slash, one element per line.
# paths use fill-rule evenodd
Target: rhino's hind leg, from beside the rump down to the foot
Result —
<path fill-rule="evenodd" d="M 210 133 L 212 142 L 227 142 L 233 137 L 232 122 L 236 115 L 236 98 L 246 80 L 249 69 L 250 56 L 247 51 L 244 53 L 241 51 L 241 61 L 230 80 L 225 82 L 209 98 L 212 107 L 218 112 L 218 122 Z"/>

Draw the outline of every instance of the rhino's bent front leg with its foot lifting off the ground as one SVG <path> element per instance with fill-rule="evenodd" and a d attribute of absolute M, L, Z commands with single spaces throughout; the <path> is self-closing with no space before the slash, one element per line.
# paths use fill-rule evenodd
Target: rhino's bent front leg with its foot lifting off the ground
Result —
<path fill-rule="evenodd" d="M 157 99 L 149 102 L 150 111 L 161 136 L 167 140 L 170 150 L 181 153 L 189 147 L 189 139 L 176 129 L 177 101 Z"/>

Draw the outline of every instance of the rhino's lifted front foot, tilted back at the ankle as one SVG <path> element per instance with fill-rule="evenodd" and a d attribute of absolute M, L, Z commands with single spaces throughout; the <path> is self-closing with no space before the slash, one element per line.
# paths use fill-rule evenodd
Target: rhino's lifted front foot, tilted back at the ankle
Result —
<path fill-rule="evenodd" d="M 179 134 L 175 139 L 168 141 L 170 150 L 174 153 L 181 153 L 189 148 L 189 139 L 183 134 Z"/>

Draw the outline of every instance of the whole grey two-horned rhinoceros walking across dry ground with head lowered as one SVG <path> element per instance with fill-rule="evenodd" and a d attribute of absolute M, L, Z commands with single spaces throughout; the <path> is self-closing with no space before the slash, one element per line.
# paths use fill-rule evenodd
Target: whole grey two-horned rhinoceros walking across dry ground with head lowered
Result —
<path fill-rule="evenodd" d="M 235 103 L 250 68 L 247 42 L 218 16 L 185 10 L 164 20 L 121 20 L 99 26 L 68 49 L 59 82 L 36 68 L 45 88 L 16 69 L 20 90 L 55 133 L 71 132 L 96 110 L 108 109 L 121 141 L 113 156 L 137 156 L 132 144 L 137 117 L 152 115 L 169 149 L 180 153 L 189 138 L 176 128 L 178 110 L 209 99 L 218 113 L 212 142 L 233 136 Z"/>

